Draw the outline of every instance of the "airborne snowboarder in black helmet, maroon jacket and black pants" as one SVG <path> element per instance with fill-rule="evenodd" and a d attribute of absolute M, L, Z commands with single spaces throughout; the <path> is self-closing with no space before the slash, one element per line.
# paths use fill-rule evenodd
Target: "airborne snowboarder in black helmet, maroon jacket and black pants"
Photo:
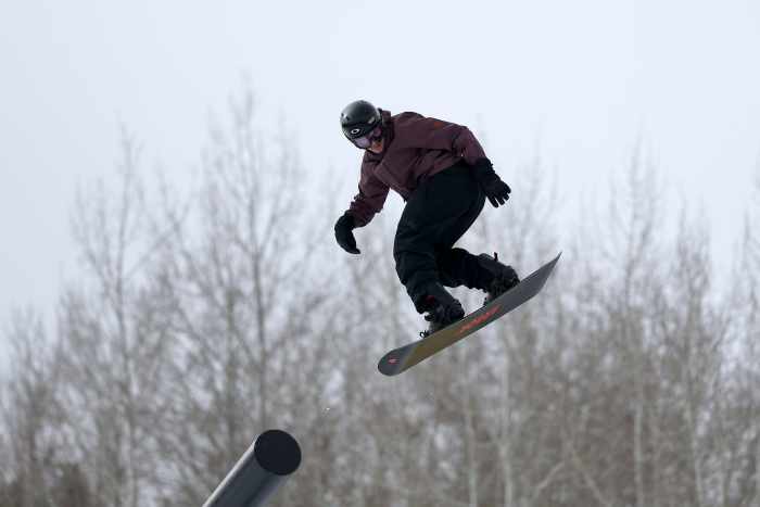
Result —
<path fill-rule="evenodd" d="M 341 127 L 365 153 L 358 194 L 335 223 L 335 239 L 346 252 L 359 254 L 353 229 L 382 210 L 390 189 L 402 195 L 406 205 L 393 257 L 415 309 L 430 322 L 422 337 L 465 316 L 444 286 L 483 290 L 487 303 L 519 282 L 496 254 L 454 248 L 486 198 L 498 207 L 511 192 L 467 127 L 413 112 L 392 116 L 364 100 L 343 110 Z"/>

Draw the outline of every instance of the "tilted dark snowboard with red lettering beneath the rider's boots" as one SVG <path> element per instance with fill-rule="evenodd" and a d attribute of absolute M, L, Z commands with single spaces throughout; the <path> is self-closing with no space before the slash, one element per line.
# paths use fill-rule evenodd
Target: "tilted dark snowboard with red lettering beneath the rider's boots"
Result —
<path fill-rule="evenodd" d="M 457 320 L 421 340 L 392 350 L 380 359 L 378 370 L 389 377 L 406 371 L 416 364 L 423 362 L 517 308 L 543 289 L 560 255 L 561 252 L 555 258 L 523 278 L 520 283 L 487 305 L 465 316 L 461 320 Z"/>

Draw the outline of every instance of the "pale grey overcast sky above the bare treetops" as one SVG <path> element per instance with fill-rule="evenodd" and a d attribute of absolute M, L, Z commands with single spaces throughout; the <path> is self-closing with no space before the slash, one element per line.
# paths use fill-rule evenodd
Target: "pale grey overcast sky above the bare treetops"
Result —
<path fill-rule="evenodd" d="M 344 170 L 346 203 L 356 98 L 487 132 L 507 181 L 537 151 L 573 217 L 641 136 L 721 262 L 760 154 L 757 0 L 0 0 L 0 315 L 49 312 L 76 274 L 74 192 L 112 176 L 121 123 L 182 178 L 243 74 L 311 172 Z"/>

